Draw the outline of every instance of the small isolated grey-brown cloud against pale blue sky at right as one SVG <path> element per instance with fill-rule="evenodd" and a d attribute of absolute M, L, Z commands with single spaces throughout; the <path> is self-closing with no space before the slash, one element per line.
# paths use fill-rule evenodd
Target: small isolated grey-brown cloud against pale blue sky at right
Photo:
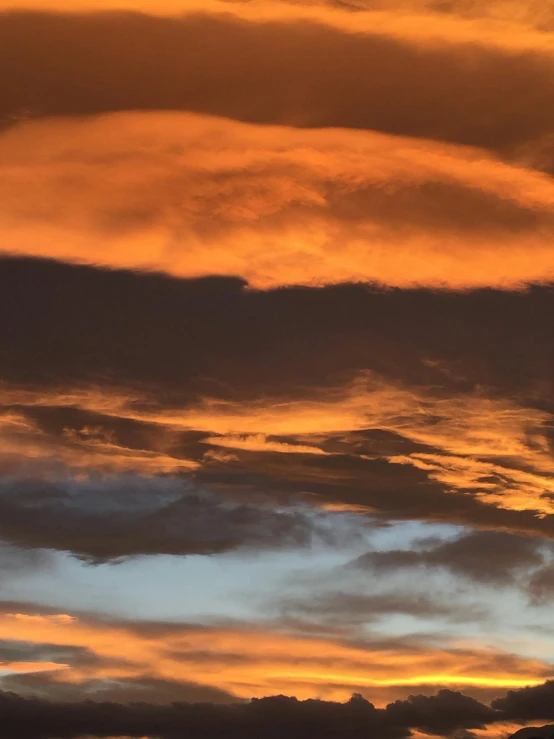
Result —
<path fill-rule="evenodd" d="M 368 552 L 353 565 L 376 571 L 442 567 L 483 583 L 511 584 L 518 574 L 537 569 L 543 562 L 541 539 L 501 531 L 471 531 L 430 548 Z"/>

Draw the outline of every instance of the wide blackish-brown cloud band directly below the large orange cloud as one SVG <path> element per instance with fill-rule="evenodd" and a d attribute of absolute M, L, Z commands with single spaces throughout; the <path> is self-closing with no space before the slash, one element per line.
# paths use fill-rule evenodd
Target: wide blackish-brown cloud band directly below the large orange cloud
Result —
<path fill-rule="evenodd" d="M 371 370 L 415 386 L 487 388 L 552 407 L 548 287 L 253 292 L 232 278 L 0 264 L 2 377 L 18 384 L 134 384 L 159 388 L 167 403 L 201 394 L 291 399 Z"/>

